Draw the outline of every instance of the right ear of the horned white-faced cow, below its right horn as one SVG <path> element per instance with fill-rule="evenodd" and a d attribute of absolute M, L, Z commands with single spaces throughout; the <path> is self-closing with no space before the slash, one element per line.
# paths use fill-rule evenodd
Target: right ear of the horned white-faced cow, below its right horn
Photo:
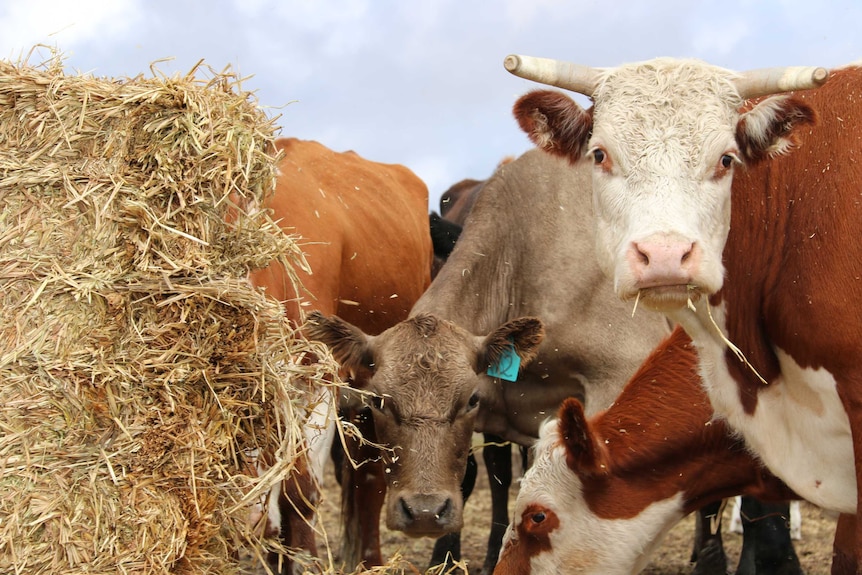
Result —
<path fill-rule="evenodd" d="M 746 164 L 786 154 L 801 140 L 800 126 L 816 122 L 814 109 L 801 99 L 766 98 L 744 112 L 736 125 L 736 141 Z"/>

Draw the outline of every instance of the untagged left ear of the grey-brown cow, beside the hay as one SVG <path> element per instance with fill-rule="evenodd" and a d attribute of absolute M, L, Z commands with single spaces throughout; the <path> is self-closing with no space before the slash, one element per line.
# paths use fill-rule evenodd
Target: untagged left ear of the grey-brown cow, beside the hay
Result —
<path fill-rule="evenodd" d="M 305 333 L 310 340 L 324 343 L 342 368 L 350 373 L 374 368 L 374 353 L 370 336 L 338 316 L 325 316 L 318 311 L 308 314 Z"/>

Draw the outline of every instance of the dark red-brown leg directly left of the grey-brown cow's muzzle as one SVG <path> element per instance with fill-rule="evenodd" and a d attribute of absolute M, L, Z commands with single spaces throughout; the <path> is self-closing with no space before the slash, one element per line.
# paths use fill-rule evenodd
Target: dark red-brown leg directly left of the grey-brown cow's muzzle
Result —
<path fill-rule="evenodd" d="M 376 443 L 374 421 L 368 408 L 342 409 L 342 418 L 351 422 L 366 440 Z M 366 568 L 383 565 L 380 552 L 380 512 L 386 497 L 386 477 L 380 451 L 358 439 L 345 437 L 347 457 L 336 462 L 340 475 L 341 560 L 349 570 L 364 563 Z M 336 459 L 334 454 L 334 459 Z M 351 460 L 358 465 L 354 468 Z"/>

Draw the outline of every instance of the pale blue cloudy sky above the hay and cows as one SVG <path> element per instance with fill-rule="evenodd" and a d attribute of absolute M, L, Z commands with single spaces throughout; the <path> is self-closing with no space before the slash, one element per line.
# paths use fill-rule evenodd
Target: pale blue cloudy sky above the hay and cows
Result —
<path fill-rule="evenodd" d="M 230 66 L 280 135 L 404 164 L 434 210 L 530 148 L 511 109 L 540 86 L 507 54 L 829 68 L 862 59 L 860 29 L 857 0 L 0 0 L 0 58 L 46 44 L 69 73 L 118 78 Z"/>

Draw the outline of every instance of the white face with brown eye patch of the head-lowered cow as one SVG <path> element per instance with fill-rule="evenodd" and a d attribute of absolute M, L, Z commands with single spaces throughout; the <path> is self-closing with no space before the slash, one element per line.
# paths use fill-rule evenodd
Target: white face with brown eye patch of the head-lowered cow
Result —
<path fill-rule="evenodd" d="M 566 449 L 556 421 L 552 421 L 542 429 L 535 462 L 521 483 L 494 573 L 638 573 L 667 530 L 682 517 L 681 494 L 631 518 L 596 515 L 579 476 L 566 463 Z"/>

